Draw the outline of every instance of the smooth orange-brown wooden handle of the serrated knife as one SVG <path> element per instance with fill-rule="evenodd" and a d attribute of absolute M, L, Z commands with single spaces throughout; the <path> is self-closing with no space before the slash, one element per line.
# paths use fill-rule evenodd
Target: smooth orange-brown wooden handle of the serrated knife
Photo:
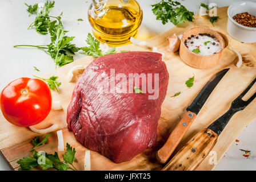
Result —
<path fill-rule="evenodd" d="M 197 114 L 192 113 L 191 111 L 188 111 L 185 114 L 173 132 L 171 132 L 163 147 L 157 151 L 157 160 L 159 163 L 163 164 L 167 162 L 196 117 Z"/>

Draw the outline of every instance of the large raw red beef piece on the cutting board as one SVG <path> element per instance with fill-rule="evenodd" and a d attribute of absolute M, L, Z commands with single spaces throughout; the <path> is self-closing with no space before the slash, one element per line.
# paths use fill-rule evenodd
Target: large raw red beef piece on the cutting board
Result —
<path fill-rule="evenodd" d="M 103 80 L 123 73 L 127 79 L 115 78 L 107 82 L 107 89 L 115 84 L 125 84 L 133 93 L 103 91 Z M 129 73 L 159 74 L 159 96 L 149 100 L 152 93 L 135 93 L 135 79 L 129 80 Z M 147 78 L 149 76 L 147 75 Z M 161 105 L 166 96 L 169 73 L 162 61 L 162 55 L 154 52 L 122 52 L 95 59 L 83 72 L 75 85 L 73 96 L 67 108 L 68 129 L 75 138 L 90 150 L 121 163 L 134 158 L 146 148 L 153 147 L 157 140 L 157 125 Z M 105 82 L 106 83 L 106 82 Z M 137 82 L 138 84 L 138 82 Z M 142 89 L 142 81 L 135 86 Z"/>

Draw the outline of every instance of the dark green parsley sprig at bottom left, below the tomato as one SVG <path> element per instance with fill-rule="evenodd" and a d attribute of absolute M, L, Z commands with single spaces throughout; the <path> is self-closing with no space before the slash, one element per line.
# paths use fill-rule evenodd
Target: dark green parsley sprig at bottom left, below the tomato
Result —
<path fill-rule="evenodd" d="M 41 159 L 45 158 L 45 163 L 41 162 Z M 77 160 L 75 158 L 75 148 L 72 148 L 69 143 L 66 143 L 66 152 L 63 155 L 62 162 L 59 159 L 58 152 L 54 154 L 42 154 L 34 150 L 33 156 L 26 156 L 23 159 L 18 160 L 19 171 L 29 171 L 35 167 L 41 167 L 43 170 L 47 170 L 50 168 L 57 169 L 58 171 L 67 171 L 67 169 L 71 169 L 73 171 L 77 171 L 77 168 L 74 167 L 73 162 Z"/>

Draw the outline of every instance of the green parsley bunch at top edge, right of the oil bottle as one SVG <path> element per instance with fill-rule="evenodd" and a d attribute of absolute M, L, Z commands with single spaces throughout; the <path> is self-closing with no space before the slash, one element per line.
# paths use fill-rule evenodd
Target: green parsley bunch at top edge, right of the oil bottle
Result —
<path fill-rule="evenodd" d="M 170 20 L 174 25 L 179 25 L 184 23 L 185 20 L 192 22 L 194 19 L 194 13 L 187 10 L 185 6 L 177 1 L 161 0 L 161 2 L 151 6 L 153 7 L 154 15 L 157 16 L 157 20 L 161 20 L 163 24 L 168 23 Z"/>

